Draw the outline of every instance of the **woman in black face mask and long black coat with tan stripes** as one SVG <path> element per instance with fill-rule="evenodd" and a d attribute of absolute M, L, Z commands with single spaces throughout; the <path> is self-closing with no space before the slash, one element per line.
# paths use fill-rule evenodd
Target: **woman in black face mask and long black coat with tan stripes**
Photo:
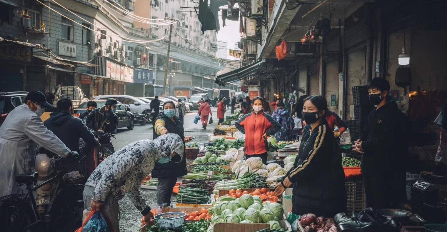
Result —
<path fill-rule="evenodd" d="M 325 97 L 311 96 L 304 100 L 303 118 L 307 125 L 298 157 L 275 189 L 278 196 L 293 185 L 294 214 L 312 212 L 333 217 L 346 209 L 345 176 L 341 160 L 334 158 L 334 135 L 324 119 L 326 112 Z"/>

